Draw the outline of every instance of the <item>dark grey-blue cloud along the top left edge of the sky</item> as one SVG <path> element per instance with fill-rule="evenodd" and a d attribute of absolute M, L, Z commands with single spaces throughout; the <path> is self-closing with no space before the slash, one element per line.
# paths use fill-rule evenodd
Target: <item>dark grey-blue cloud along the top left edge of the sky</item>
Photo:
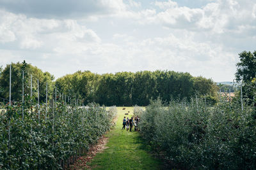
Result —
<path fill-rule="evenodd" d="M 122 0 L 0 0 L 0 6 L 12 13 L 22 13 L 33 18 L 80 18 L 108 15 L 125 9 Z"/>

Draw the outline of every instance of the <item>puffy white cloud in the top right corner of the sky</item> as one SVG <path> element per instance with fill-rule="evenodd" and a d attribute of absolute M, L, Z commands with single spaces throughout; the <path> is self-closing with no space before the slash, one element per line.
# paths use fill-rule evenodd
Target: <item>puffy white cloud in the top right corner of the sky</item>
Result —
<path fill-rule="evenodd" d="M 252 0 L 218 0 L 202 8 L 179 6 L 174 1 L 156 1 L 163 11 L 156 13 L 154 22 L 165 27 L 190 29 L 191 31 L 213 31 L 218 34 L 236 31 L 241 25 L 255 25 L 255 3 Z M 151 19 L 152 20 L 152 17 Z"/>

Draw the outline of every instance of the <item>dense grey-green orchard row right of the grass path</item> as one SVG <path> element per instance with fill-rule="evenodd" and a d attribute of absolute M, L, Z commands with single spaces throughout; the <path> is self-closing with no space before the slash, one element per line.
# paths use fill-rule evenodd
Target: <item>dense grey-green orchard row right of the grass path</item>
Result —
<path fill-rule="evenodd" d="M 255 110 L 225 97 L 214 107 L 204 98 L 152 102 L 141 115 L 141 135 L 181 169 L 255 169 Z"/>

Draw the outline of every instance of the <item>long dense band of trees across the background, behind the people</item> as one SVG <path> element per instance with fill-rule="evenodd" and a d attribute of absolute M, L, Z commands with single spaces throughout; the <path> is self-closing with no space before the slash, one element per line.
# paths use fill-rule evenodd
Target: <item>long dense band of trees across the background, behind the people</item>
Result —
<path fill-rule="evenodd" d="M 175 71 L 138 71 L 115 74 L 94 74 L 77 71 L 56 80 L 60 92 L 76 96 L 85 103 L 106 106 L 147 106 L 150 99 L 190 98 L 195 91 L 215 96 L 216 85 L 211 79 L 193 78 L 189 73 Z M 80 96 L 78 95 L 80 94 Z"/>

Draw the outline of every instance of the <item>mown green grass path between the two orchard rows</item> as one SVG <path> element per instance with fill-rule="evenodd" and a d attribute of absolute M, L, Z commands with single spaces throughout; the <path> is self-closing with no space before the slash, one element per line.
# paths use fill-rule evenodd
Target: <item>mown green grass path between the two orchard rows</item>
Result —
<path fill-rule="evenodd" d="M 122 129 L 124 113 L 133 115 L 132 107 L 118 107 L 118 120 L 116 126 L 106 135 L 109 142 L 108 148 L 102 153 L 97 153 L 89 163 L 93 169 L 162 169 L 161 161 L 154 159 L 147 153 L 145 143 L 138 132 L 130 132 Z"/>

